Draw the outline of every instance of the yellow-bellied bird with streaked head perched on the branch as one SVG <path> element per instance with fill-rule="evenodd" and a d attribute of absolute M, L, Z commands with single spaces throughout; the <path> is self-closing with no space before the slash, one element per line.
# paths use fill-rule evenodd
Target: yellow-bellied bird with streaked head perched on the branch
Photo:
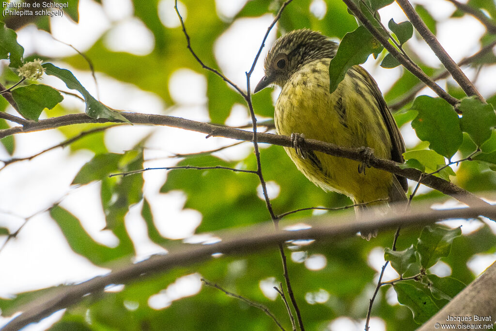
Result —
<path fill-rule="evenodd" d="M 403 163 L 405 143 L 377 83 L 362 66 L 350 67 L 329 92 L 329 64 L 338 46 L 310 29 L 282 35 L 267 53 L 265 75 L 253 92 L 281 88 L 274 123 L 278 134 L 291 136 L 292 147 L 284 147 L 287 154 L 310 182 L 350 197 L 359 217 L 372 205 L 407 200 L 405 177 L 366 171 L 372 153 Z M 364 162 L 308 150 L 308 138 L 360 149 Z M 362 233 L 368 240 L 375 235 Z"/>

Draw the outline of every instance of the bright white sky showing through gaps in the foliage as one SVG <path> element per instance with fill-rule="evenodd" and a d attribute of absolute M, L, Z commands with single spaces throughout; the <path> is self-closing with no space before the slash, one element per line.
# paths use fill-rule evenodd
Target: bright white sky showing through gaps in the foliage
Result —
<path fill-rule="evenodd" d="M 218 14 L 233 17 L 245 2 L 246 0 L 216 0 Z M 485 31 L 479 21 L 469 15 L 456 20 L 449 20 L 449 16 L 454 11 L 454 6 L 445 0 L 415 0 L 413 2 L 422 3 L 435 15 L 436 19 L 441 20 L 441 23 L 437 26 L 439 40 L 455 61 L 477 52 L 480 47 L 478 40 Z M 111 28 L 106 44 L 112 50 L 145 55 L 153 49 L 153 35 L 142 22 L 132 18 L 133 7 L 130 0 L 102 0 L 102 3 L 103 8 L 92 0 L 80 0 L 80 22 L 78 24 L 65 17 L 52 18 L 53 35 L 84 52 L 91 47 L 103 32 Z M 159 4 L 160 18 L 167 27 L 179 25 L 173 5 L 173 0 L 162 0 Z M 186 18 L 187 25 L 187 8 L 182 3 L 180 3 L 179 7 Z M 314 0 L 311 4 L 311 9 L 318 17 L 325 13 L 325 2 L 323 0 Z M 396 22 L 406 19 L 395 3 L 381 9 L 380 14 L 386 26 L 391 17 Z M 273 16 L 270 14 L 258 18 L 239 19 L 215 44 L 214 52 L 220 68 L 226 76 L 240 86 L 246 84 L 245 71 L 251 66 L 261 39 L 272 19 Z M 237 38 L 236 36 L 240 34 L 246 36 L 246 38 Z M 275 30 L 270 34 L 266 45 L 271 45 L 274 39 Z M 63 57 L 74 54 L 71 48 L 55 41 L 48 33 L 38 31 L 34 26 L 27 26 L 19 30 L 18 41 L 25 49 L 25 56 L 35 52 L 50 57 Z M 194 40 L 192 43 L 194 45 Z M 426 44 L 419 42 L 417 38 L 411 39 L 409 43 L 428 64 L 433 66 L 438 64 L 437 58 Z M 267 48 L 264 49 L 260 59 L 263 59 L 266 51 Z M 65 64 L 61 66 L 67 67 Z M 372 57 L 364 66 L 371 72 L 383 92 L 391 87 L 401 72 L 399 67 L 394 69 L 378 67 L 377 62 Z M 70 67 L 67 68 L 71 69 Z M 474 77 L 474 70 L 465 70 L 469 77 Z M 71 71 L 74 72 L 90 93 L 94 96 L 97 95 L 95 84 L 90 74 L 77 70 Z M 262 74 L 262 63 L 259 61 L 252 75 L 253 80 L 258 81 Z M 485 72 L 479 75 L 476 85 L 483 95 L 495 93 L 495 75 L 495 66 L 485 69 Z M 100 100 L 112 108 L 154 114 L 163 114 L 164 109 L 167 108 L 167 105 L 159 97 L 153 93 L 141 91 L 132 84 L 119 82 L 99 72 L 97 72 L 97 79 Z M 43 82 L 66 89 L 60 80 L 52 76 L 45 76 Z M 441 86 L 444 83 L 445 81 L 441 81 Z M 180 105 L 174 110 L 168 110 L 169 115 L 197 121 L 208 121 L 208 112 L 205 106 L 206 80 L 204 76 L 189 69 L 180 69 L 173 74 L 169 82 L 164 82 L 164 88 L 170 89 L 171 96 Z M 274 98 L 277 98 L 277 94 L 278 91 L 275 91 Z M 434 95 L 427 88 L 421 91 L 421 94 Z M 64 97 L 64 105 L 77 107 L 81 112 L 84 111 L 84 106 L 78 99 L 70 96 Z M 43 116 L 45 115 L 43 114 Z M 247 108 L 242 105 L 235 106 L 228 124 L 243 125 L 248 122 Z M 412 133 L 412 129 L 409 126 L 407 127 L 402 130 L 402 133 L 407 145 L 412 146 L 416 144 L 417 138 Z M 202 133 L 179 129 L 133 126 L 110 129 L 106 134 L 107 146 L 113 152 L 122 153 L 124 150 L 130 149 L 150 132 L 153 135 L 148 141 L 150 149 L 146 151 L 145 158 L 156 160 L 148 162 L 146 166 L 149 167 L 173 165 L 177 161 L 168 158 L 168 156 L 175 152 L 187 153 L 208 150 L 228 144 L 231 141 L 224 138 L 204 139 L 204 134 Z M 172 138 L 176 142 L 185 142 L 174 147 L 164 144 L 164 141 L 170 141 Z M 55 145 L 63 140 L 63 136 L 60 132 L 51 130 L 17 134 L 15 139 L 17 148 L 14 156 L 21 157 L 33 155 L 48 146 Z M 250 146 L 245 144 L 222 151 L 217 155 L 226 159 L 239 158 L 248 155 L 250 150 Z M 32 161 L 19 162 L 2 170 L 0 172 L 0 183 L 3 188 L 3 190 L 0 190 L 2 226 L 6 223 L 11 232 L 13 232 L 22 224 L 24 217 L 42 211 L 62 199 L 62 207 L 78 217 L 95 240 L 110 246 L 116 245 L 117 239 L 110 231 L 101 231 L 105 225 L 103 212 L 99 208 L 88 208 L 88 206 L 99 206 L 101 203 L 99 200 L 99 184 L 94 183 L 80 188 L 69 188 L 70 182 L 78 169 L 92 156 L 92 153 L 88 151 L 80 151 L 69 156 L 67 149 L 59 148 Z M 8 158 L 8 154 L 0 148 L 0 159 Z M 157 219 L 161 220 L 160 224 L 157 224 L 161 233 L 170 238 L 190 237 L 201 221 L 199 212 L 182 210 L 185 197 L 181 193 L 158 194 L 158 189 L 166 178 L 164 172 L 146 172 L 144 177 L 145 196 L 151 202 Z M 132 207 L 125 220 L 126 227 L 130 229 L 129 232 L 132 234 L 132 239 L 138 252 L 137 260 L 144 259 L 150 254 L 164 251 L 147 239 L 146 228 L 139 214 L 140 210 L 140 204 Z M 468 225 L 465 224 L 463 230 L 464 232 L 473 231 L 479 226 L 481 226 L 480 223 L 471 222 Z M 494 230 L 496 231 L 496 229 Z M 3 238 L 5 237 L 0 238 L 2 239 L 0 244 L 4 240 Z M 202 238 L 199 238 L 198 241 L 202 241 Z M 292 256 L 294 261 L 297 261 L 298 258 L 298 256 Z M 479 274 L 495 259 L 495 255 L 481 256 L 475 258 L 470 267 L 475 274 Z M 322 268 L 326 264 L 325 257 L 322 259 L 322 256 L 315 256 L 308 260 L 310 262 L 306 261 L 306 266 L 310 269 Z M 377 248 L 373 250 L 369 260 L 374 269 L 379 269 L 383 264 L 383 249 Z M 17 239 L 11 240 L 4 250 L 0 252 L 0 269 L 0 296 L 2 297 L 61 283 L 83 281 L 109 271 L 96 267 L 83 257 L 73 253 L 60 229 L 46 212 L 32 217 Z M 443 265 L 443 263 L 434 266 L 434 269 L 439 275 L 447 275 L 451 272 L 449 266 Z M 392 269 L 386 272 L 387 279 L 393 279 L 396 276 Z M 260 283 L 261 290 L 268 297 L 273 295 L 267 290 L 267 288 L 272 287 L 273 282 L 273 279 L 267 279 Z M 153 297 L 150 300 L 150 304 L 154 307 L 166 307 L 175 299 L 199 291 L 198 284 L 199 275 L 185 276 L 171 285 L 172 287 L 167 292 L 169 294 Z M 395 302 L 393 291 L 388 292 L 388 297 L 391 302 Z M 308 298 L 308 300 L 323 300 L 325 302 L 325 298 L 325 293 L 319 293 L 313 298 Z M 39 325 L 30 326 L 25 330 L 44 330 L 57 321 L 60 316 L 60 313 L 56 313 Z M 5 322 L 6 319 L 0 318 L 0 326 Z M 329 330 L 362 330 L 363 325 L 363 321 L 357 324 L 351 319 L 340 318 L 331 323 Z M 371 330 L 384 330 L 383 322 L 380 319 L 372 319 Z"/>

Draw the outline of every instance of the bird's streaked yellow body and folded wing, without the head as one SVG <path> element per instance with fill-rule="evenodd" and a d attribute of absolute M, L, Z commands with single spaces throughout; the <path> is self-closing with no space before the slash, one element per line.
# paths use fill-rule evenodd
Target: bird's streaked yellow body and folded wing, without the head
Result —
<path fill-rule="evenodd" d="M 360 69 L 351 68 L 336 91 L 329 93 L 329 60 L 307 64 L 284 85 L 275 107 L 278 134 L 304 133 L 306 138 L 359 148 L 391 158 L 391 139 L 379 106 L 360 79 Z M 388 172 L 369 168 L 359 173 L 359 162 L 315 152 L 320 169 L 285 147 L 297 168 L 326 191 L 343 193 L 357 203 L 387 199 L 392 185 Z"/>

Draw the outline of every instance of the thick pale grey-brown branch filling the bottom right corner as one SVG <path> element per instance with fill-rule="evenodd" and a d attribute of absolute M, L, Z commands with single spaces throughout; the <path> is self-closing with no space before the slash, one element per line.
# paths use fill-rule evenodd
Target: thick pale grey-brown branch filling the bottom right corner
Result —
<path fill-rule="evenodd" d="M 463 291 L 451 300 L 443 309 L 435 314 L 429 321 L 424 323 L 419 331 L 433 330 L 436 323 L 451 324 L 452 329 L 462 329 L 462 324 L 482 326 L 481 329 L 486 329 L 485 325 L 491 326 L 495 323 L 496 317 L 496 300 L 494 298 L 494 289 L 496 288 L 496 263 L 493 263 L 486 271 L 472 283 L 470 283 Z M 490 320 L 479 319 L 475 320 L 474 316 L 489 317 Z M 470 317 L 471 320 L 448 321 L 448 316 L 451 317 Z M 438 329 L 438 328 L 436 328 Z M 464 328 L 467 329 L 467 328 Z M 476 328 L 473 328 L 476 329 Z M 493 328 L 489 328 L 493 329 Z"/>

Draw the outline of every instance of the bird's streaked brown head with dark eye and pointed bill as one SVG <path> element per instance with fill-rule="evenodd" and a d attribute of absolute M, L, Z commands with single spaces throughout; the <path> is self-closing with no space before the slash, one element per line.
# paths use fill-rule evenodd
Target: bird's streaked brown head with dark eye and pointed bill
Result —
<path fill-rule="evenodd" d="M 270 84 L 284 86 L 293 73 L 307 63 L 331 59 L 338 44 L 309 29 L 291 31 L 276 40 L 265 58 L 265 76 L 256 85 L 256 93 Z"/>

